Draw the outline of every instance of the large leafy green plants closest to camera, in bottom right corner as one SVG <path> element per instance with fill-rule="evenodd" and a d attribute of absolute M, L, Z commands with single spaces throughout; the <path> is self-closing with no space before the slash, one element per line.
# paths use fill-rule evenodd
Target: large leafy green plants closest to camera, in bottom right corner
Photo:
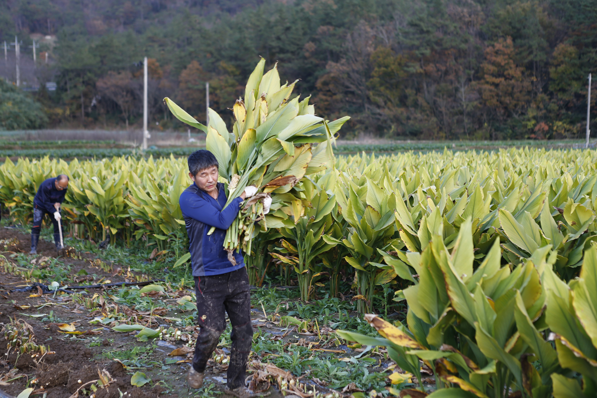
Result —
<path fill-rule="evenodd" d="M 387 347 L 418 380 L 422 361 L 435 377 L 437 389 L 429 397 L 596 396 L 597 246 L 589 245 L 578 278 L 565 283 L 556 273 L 559 254 L 551 244 L 513 266 L 496 239 L 482 263 L 472 267 L 471 218 L 461 224 L 451 250 L 442 229 L 436 224 L 429 245 L 411 254 L 419 274 L 403 291 L 407 325 L 368 314 L 381 338 L 338 335 Z M 418 390 L 411 396 L 431 392 L 422 384 Z"/>

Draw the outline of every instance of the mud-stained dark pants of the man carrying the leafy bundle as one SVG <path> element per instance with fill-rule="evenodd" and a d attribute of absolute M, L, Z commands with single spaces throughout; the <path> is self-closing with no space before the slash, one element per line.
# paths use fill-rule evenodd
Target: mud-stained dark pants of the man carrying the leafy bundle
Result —
<path fill-rule="evenodd" d="M 204 372 L 207 361 L 226 329 L 226 313 L 232 324 L 230 363 L 227 387 L 245 385 L 247 358 L 251 353 L 253 325 L 251 325 L 251 295 L 247 268 L 213 276 L 195 276 L 199 336 L 195 345 L 193 368 Z"/>

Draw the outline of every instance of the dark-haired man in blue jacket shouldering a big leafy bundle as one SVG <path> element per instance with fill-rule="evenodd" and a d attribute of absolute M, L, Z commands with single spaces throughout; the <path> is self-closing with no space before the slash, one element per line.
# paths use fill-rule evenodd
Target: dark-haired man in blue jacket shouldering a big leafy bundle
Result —
<path fill-rule="evenodd" d="M 253 397 L 253 391 L 245 387 L 247 358 L 253 341 L 249 279 L 242 254 L 236 252 L 235 262 L 231 262 L 223 243 L 242 201 L 255 195 L 257 189 L 248 186 L 224 208 L 227 198 L 224 184 L 218 183 L 216 157 L 207 150 L 198 150 L 189 156 L 188 164 L 193 184 L 180 195 L 180 209 L 189 236 L 201 329 L 187 382 L 193 388 L 203 384 L 207 361 L 226 328 L 226 311 L 232 323 L 232 349 L 225 391 L 239 398 Z M 215 230 L 210 234 L 212 227 Z"/>

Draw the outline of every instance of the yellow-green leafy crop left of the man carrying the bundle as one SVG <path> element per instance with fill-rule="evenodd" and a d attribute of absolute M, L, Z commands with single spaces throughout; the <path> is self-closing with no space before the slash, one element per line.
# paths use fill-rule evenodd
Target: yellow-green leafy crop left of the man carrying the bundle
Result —
<path fill-rule="evenodd" d="M 46 178 L 66 174 L 69 190 L 63 209 L 77 237 L 115 242 L 146 239 L 158 248 L 179 237 L 184 225 L 179 197 L 189 185 L 184 159 L 112 158 L 67 163 L 46 157 L 8 159 L 0 166 L 0 201 L 22 225 L 32 220 L 33 198 Z"/>

